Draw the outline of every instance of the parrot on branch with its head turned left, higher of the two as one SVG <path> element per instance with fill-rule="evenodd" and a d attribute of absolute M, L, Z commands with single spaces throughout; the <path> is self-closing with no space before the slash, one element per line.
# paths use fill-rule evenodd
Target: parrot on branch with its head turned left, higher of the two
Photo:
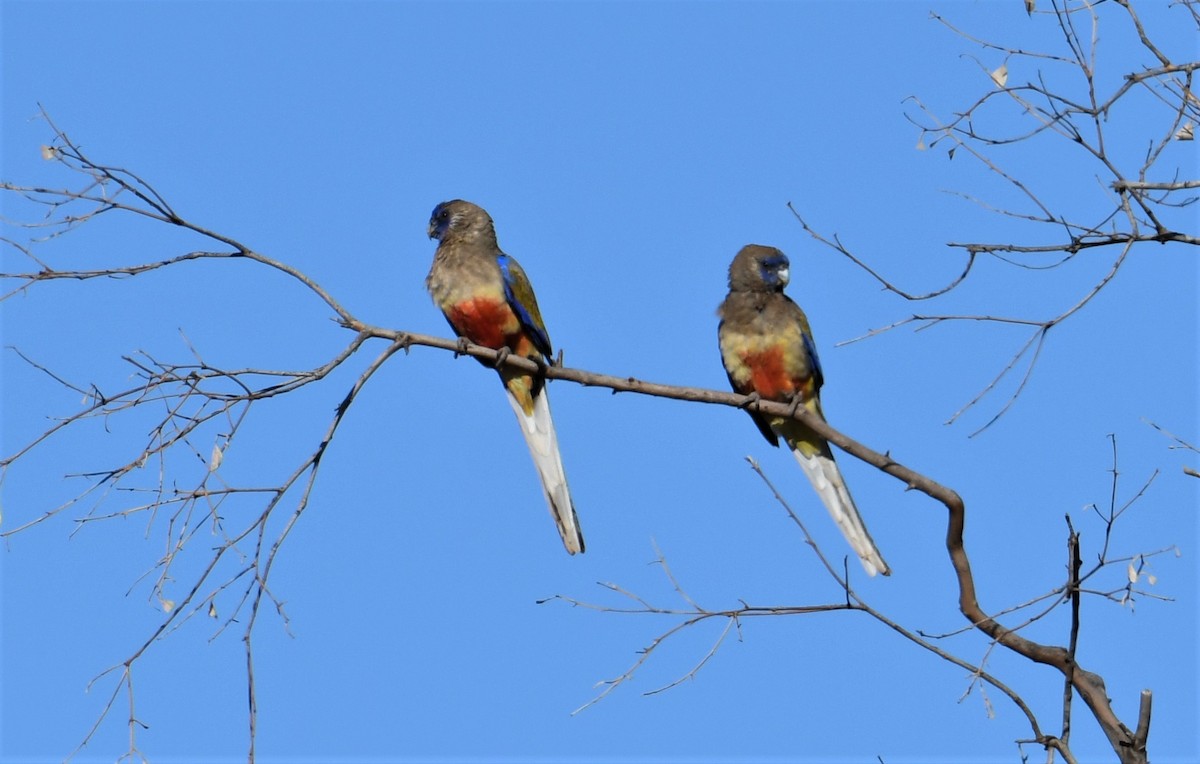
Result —
<path fill-rule="evenodd" d="M 496 368 L 521 422 L 550 513 L 568 553 L 583 552 L 583 534 L 550 416 L 546 380 L 503 363 L 509 353 L 540 363 L 552 355 L 529 278 L 500 251 L 491 216 L 470 201 L 455 199 L 436 206 L 428 233 L 439 243 L 425 285 L 460 337 L 502 353 Z"/>

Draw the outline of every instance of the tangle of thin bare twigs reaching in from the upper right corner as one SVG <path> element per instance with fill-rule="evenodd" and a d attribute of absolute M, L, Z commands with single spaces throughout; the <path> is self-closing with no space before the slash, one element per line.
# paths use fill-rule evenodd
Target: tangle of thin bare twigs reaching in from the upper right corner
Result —
<path fill-rule="evenodd" d="M 1186 8 L 1192 14 L 1192 22 L 1196 24 L 1200 14 L 1196 12 L 1194 0 L 1175 5 Z M 938 118 L 918 98 L 911 98 L 917 115 L 908 115 L 908 120 L 920 130 L 918 149 L 944 146 L 950 158 L 959 152 L 970 156 L 988 174 L 1013 188 L 1021 205 L 992 205 L 971 195 L 961 195 L 991 212 L 1027 223 L 1036 227 L 1037 231 L 1044 231 L 1037 233 L 1038 239 L 1032 242 L 950 241 L 947 246 L 960 249 L 966 255 L 961 271 L 938 287 L 913 291 L 899 287 L 894 279 L 868 265 L 866 258 L 856 254 L 838 235 L 826 236 L 818 233 L 792 207 L 793 215 L 806 234 L 847 258 L 886 290 L 907 301 L 936 300 L 958 289 L 978 272 L 976 265 L 979 255 L 989 255 L 1015 267 L 1039 271 L 1055 269 L 1085 252 L 1099 254 L 1109 249 L 1116 251 L 1108 273 L 1084 289 L 1074 305 L 1060 311 L 1052 318 L 924 313 L 872 329 L 857 338 L 877 337 L 908 324 L 914 324 L 918 329 L 950 321 L 1036 326 L 1033 336 L 1010 357 L 1000 373 L 950 417 L 949 421 L 955 422 L 966 411 L 979 405 L 988 392 L 1016 372 L 1020 361 L 1036 345 L 1037 350 L 1025 367 L 1014 392 L 998 405 L 986 423 L 971 433 L 972 435 L 979 434 L 1003 416 L 1028 386 L 1038 353 L 1044 347 L 1046 331 L 1072 318 L 1104 290 L 1135 248 L 1140 253 L 1154 252 L 1147 248 L 1154 243 L 1200 245 L 1200 235 L 1194 230 L 1195 216 L 1183 216 L 1178 221 L 1172 221 L 1168 215 L 1170 211 L 1194 205 L 1200 198 L 1194 193 L 1194 190 L 1200 188 L 1200 180 L 1181 176 L 1184 173 L 1194 173 L 1194 167 L 1187 164 L 1163 167 L 1166 162 L 1166 149 L 1181 140 L 1190 140 L 1194 126 L 1200 121 L 1200 97 L 1196 96 L 1194 83 L 1200 61 L 1172 60 L 1172 54 L 1152 41 L 1128 0 L 1120 0 L 1111 11 L 1103 7 L 1103 4 L 1090 0 L 1056 0 L 1051 11 L 1039 16 L 1054 18 L 1062 50 L 1030 50 L 989 41 L 934 14 L 935 20 L 962 40 L 978 46 L 989 56 L 1001 56 L 1002 64 L 995 70 L 989 70 L 982 61 L 972 59 L 983 74 L 982 83 L 986 89 L 965 108 L 956 109 L 950 118 Z M 1102 23 L 1105 30 L 1110 30 L 1108 32 L 1110 36 L 1129 35 L 1132 31 L 1141 48 L 1154 58 L 1156 65 L 1134 68 L 1136 65 L 1134 61 L 1118 62 L 1127 67 L 1124 77 L 1115 85 L 1106 85 L 1108 79 L 1102 82 L 1097 77 Z M 1036 79 L 1009 84 L 1009 72 L 1025 67 L 1036 71 Z M 1105 88 L 1109 90 L 1105 91 Z M 1134 101 L 1135 97 L 1146 95 L 1160 108 L 1147 109 Z M 1117 110 L 1118 104 L 1127 108 Z M 1015 107 L 1015 112 L 1003 110 L 1006 106 Z M 1000 114 L 1010 115 L 1012 119 L 1001 119 L 997 116 Z M 1130 121 L 1133 115 L 1136 115 L 1136 121 Z M 1008 132 L 990 132 L 988 127 L 994 124 L 1003 126 Z M 1014 124 L 1016 127 L 1010 127 Z M 1111 137 L 1122 131 L 1145 138 L 1148 149 L 1144 155 L 1128 156 L 1127 150 L 1115 148 Z M 1004 156 L 1010 157 L 1013 151 L 1034 137 L 1057 139 L 1064 152 L 1082 152 L 1096 166 L 1096 178 L 1102 181 L 1100 187 L 1109 193 L 1092 205 L 1094 210 L 1091 213 L 1092 219 L 1068 217 L 1055 211 L 1056 205 L 1050 200 L 1046 187 L 1057 190 L 1069 182 L 1069 179 L 1064 181 L 1058 174 L 1037 173 L 1025 176 L 1001 161 L 1001 150 L 1008 150 Z M 1087 179 L 1081 178 L 1080 181 Z M 1094 192 L 1079 190 L 1074 195 L 1084 197 L 1085 193 Z M 1091 199 L 1091 195 L 1087 198 Z"/>

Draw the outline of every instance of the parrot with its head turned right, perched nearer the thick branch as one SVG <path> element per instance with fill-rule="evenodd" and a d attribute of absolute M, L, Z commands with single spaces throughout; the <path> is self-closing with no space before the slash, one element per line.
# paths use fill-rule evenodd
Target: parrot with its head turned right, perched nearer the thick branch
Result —
<path fill-rule="evenodd" d="M 824 419 L 821 361 L 808 317 L 784 294 L 787 281 L 787 255 L 779 249 L 748 245 L 738 252 L 730 265 L 730 294 L 718 309 L 721 361 L 737 392 L 766 401 L 794 399 Z M 888 576 L 892 571 L 850 498 L 829 443 L 794 419 L 754 411 L 750 417 L 772 445 L 782 438 L 792 450 L 866 572 Z"/>

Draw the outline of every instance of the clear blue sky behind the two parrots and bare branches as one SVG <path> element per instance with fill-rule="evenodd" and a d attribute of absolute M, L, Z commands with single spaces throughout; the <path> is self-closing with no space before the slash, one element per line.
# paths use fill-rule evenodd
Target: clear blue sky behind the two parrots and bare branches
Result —
<path fill-rule="evenodd" d="M 1146 8 L 1146 22 L 1188 60 L 1194 30 L 1182 8 L 1163 5 Z M 1086 293 L 1110 257 L 1050 272 L 985 261 L 937 306 L 914 308 L 814 242 L 786 206 L 918 291 L 961 269 L 947 241 L 1044 235 L 947 193 L 1020 201 L 964 154 L 948 161 L 944 150 L 917 150 L 918 131 L 904 116 L 916 107 L 905 98 L 947 115 L 985 92 L 985 72 L 1003 62 L 930 11 L 1014 47 L 1057 40 L 1052 18 L 1030 19 L 1016 0 L 6 0 L 0 174 L 71 182 L 38 156 L 49 140 L 42 104 L 94 158 L 138 173 L 188 219 L 308 273 L 362 320 L 443 336 L 424 289 L 434 248 L 426 222 L 438 201 L 470 199 L 492 213 L 502 247 L 529 273 L 568 365 L 716 389 L 726 379 L 714 311 L 728 261 L 748 242 L 779 246 L 792 258 L 790 294 L 821 348 L 827 415 L 966 499 L 986 609 L 1060 583 L 1067 513 L 1084 533 L 1085 559 L 1094 559 L 1103 524 L 1085 507 L 1108 506 L 1110 434 L 1118 501 L 1162 470 L 1112 543 L 1117 555 L 1176 545 L 1180 557 L 1151 561 L 1153 591 L 1174 601 L 1086 600 L 1079 655 L 1105 676 L 1127 723 L 1138 692 L 1154 691 L 1156 760 L 1194 760 L 1200 481 L 1182 473 L 1195 458 L 1170 450 L 1145 421 L 1200 437 L 1194 253 L 1139 251 L 1051 332 L 1016 405 L 968 438 L 1015 379 L 944 422 L 1025 342 L 1022 330 L 955 324 L 838 343 L 917 309 L 1050 315 Z M 1103 78 L 1120 77 L 1130 58 L 1150 64 L 1118 8 L 1105 8 L 1102 24 Z M 1010 82 L 1034 76 L 1027 64 L 1010 66 Z M 1013 115 L 995 119 L 1012 125 Z M 1127 127 L 1136 125 L 1136 114 L 1111 115 L 1112 150 L 1126 161 L 1145 151 L 1147 133 Z M 1043 137 L 997 156 L 1056 209 L 1078 212 L 1104 198 L 1099 168 L 1066 142 Z M 1163 179 L 1168 168 L 1194 174 L 1195 158 L 1190 144 L 1176 144 Z M 6 199 L 6 216 L 25 212 Z M 1194 215 L 1175 219 L 1195 231 Z M 58 267 L 97 267 L 206 246 L 104 216 L 38 255 Z M 12 251 L 4 263 L 25 267 Z M 122 355 L 190 359 L 181 331 L 224 367 L 306 368 L 349 341 L 310 294 L 236 261 L 43 284 L 4 303 L 0 317 L 5 345 L 101 390 L 130 384 Z M 382 348 L 326 383 L 256 407 L 226 455 L 226 479 L 262 485 L 290 471 Z M 47 417 L 80 405 L 11 351 L 0 384 L 5 455 Z M 962 697 L 962 669 L 848 614 L 748 620 L 694 679 L 644 696 L 688 674 L 722 625 L 686 630 L 634 680 L 572 716 L 598 681 L 626 670 L 677 619 L 536 601 L 628 604 L 596 585 L 610 582 L 682 607 L 650 565 L 655 548 L 708 608 L 840 600 L 743 457 L 762 463 L 830 557 L 846 549 L 791 457 L 744 414 L 565 383 L 551 391 L 588 541 L 576 558 L 546 517 L 494 374 L 415 348 L 371 380 L 271 574 L 290 633 L 270 613 L 254 633 L 263 760 L 1015 760 L 1013 740 L 1030 733 L 1012 704 L 989 692 L 989 717 L 978 691 Z M 113 417 L 31 452 L 6 477 L 4 528 L 78 491 L 65 474 L 128 461 L 148 422 Z M 839 461 L 895 570 L 890 579 L 856 578 L 860 592 L 911 628 L 962 627 L 942 507 L 845 455 Z M 173 463 L 180 475 L 196 467 Z M 101 510 L 128 504 L 109 495 Z M 163 518 L 90 523 L 72 535 L 71 518 L 90 509 L 10 537 L 0 555 L 0 760 L 68 754 L 116 678 L 90 692 L 89 680 L 163 618 L 139 579 L 163 553 Z M 251 503 L 227 507 L 235 519 L 252 511 Z M 206 543 L 197 539 L 172 591 L 182 595 Z M 1105 580 L 1118 588 L 1120 569 Z M 134 664 L 136 714 L 148 726 L 138 746 L 152 760 L 245 756 L 241 631 L 211 638 L 216 624 L 193 619 Z M 1030 636 L 1061 644 L 1066 626 L 1050 619 Z M 940 645 L 986 658 L 1055 728 L 1061 681 L 1051 672 L 989 652 L 973 634 Z M 79 760 L 120 756 L 127 716 L 122 694 Z M 1081 760 L 1109 760 L 1085 712 L 1073 735 Z"/>

